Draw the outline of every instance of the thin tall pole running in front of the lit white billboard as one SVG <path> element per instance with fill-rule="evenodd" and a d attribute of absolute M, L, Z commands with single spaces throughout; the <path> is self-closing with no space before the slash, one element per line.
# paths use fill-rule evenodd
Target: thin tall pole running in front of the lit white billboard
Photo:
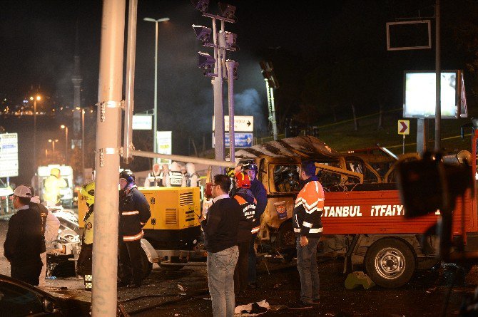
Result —
<path fill-rule="evenodd" d="M 440 61 L 440 3 L 436 0 L 435 5 L 435 76 L 437 81 L 437 87 L 435 88 L 435 95 L 437 104 L 435 105 L 435 152 L 442 150 L 442 65 Z"/>

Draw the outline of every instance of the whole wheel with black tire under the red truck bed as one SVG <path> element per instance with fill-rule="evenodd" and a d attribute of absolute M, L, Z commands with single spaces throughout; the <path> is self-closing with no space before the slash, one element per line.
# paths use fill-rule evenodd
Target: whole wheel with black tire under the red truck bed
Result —
<path fill-rule="evenodd" d="M 412 279 L 417 260 L 410 246 L 404 241 L 384 238 L 375 241 L 367 250 L 365 269 L 378 286 L 393 289 Z"/>

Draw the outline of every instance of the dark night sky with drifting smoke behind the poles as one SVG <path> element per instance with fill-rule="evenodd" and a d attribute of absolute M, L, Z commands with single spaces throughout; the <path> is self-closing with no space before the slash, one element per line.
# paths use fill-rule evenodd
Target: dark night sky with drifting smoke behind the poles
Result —
<path fill-rule="evenodd" d="M 453 2 L 442 1 L 443 19 L 450 20 L 452 14 L 458 14 L 448 10 Z M 216 3 L 210 1 L 211 13 L 218 11 Z M 336 63 L 337 58 L 345 55 L 365 56 L 372 61 L 380 56 L 395 66 L 390 77 L 399 85 L 395 95 L 392 93 L 393 106 L 402 102 L 403 70 L 434 67 L 432 50 L 391 53 L 385 45 L 385 22 L 418 14 L 431 16 L 433 0 L 228 3 L 237 6 L 238 22 L 226 24 L 225 29 L 238 33 L 240 46 L 240 51 L 229 56 L 240 63 L 239 79 L 235 81 L 235 114 L 255 115 L 255 136 L 268 135 L 267 100 L 259 66 L 264 58 L 278 60 L 274 62 L 276 73 L 283 91 L 288 91 L 288 87 L 305 84 L 307 73 L 320 63 Z M 81 105 L 96 103 L 101 6 L 102 1 L 97 0 L 0 0 L 0 94 L 21 99 L 29 95 L 31 87 L 40 87 L 59 105 L 71 104 L 78 21 L 83 76 Z M 211 27 L 211 20 L 201 16 L 188 0 L 138 0 L 136 113 L 153 108 L 155 33 L 154 24 L 143 21 L 146 16 L 171 19 L 168 24 L 159 25 L 158 129 L 173 130 L 173 154 L 187 154 L 187 147 L 182 145 L 189 136 L 200 143 L 205 135 L 210 142 L 213 93 L 210 79 L 196 67 L 196 52 L 212 53 L 212 49 L 201 46 L 191 25 Z M 442 67 L 464 68 L 464 62 L 447 48 L 447 36 L 444 31 Z"/>

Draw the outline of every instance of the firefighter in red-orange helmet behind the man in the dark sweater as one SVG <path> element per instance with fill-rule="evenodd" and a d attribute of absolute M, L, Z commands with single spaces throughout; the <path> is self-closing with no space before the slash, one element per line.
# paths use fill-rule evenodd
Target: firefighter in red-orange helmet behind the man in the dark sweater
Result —
<path fill-rule="evenodd" d="M 248 259 L 249 246 L 252 239 L 252 227 L 257 201 L 253 192 L 250 191 L 249 176 L 243 172 L 238 172 L 234 176 L 235 189 L 231 192 L 233 197 L 243 211 L 238 224 L 238 247 L 239 258 L 234 270 L 234 292 L 242 293 L 248 287 Z"/>

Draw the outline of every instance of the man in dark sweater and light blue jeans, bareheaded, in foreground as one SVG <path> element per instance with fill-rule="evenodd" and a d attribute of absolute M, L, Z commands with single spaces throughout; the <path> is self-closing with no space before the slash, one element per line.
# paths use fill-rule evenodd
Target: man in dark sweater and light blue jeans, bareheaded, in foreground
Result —
<path fill-rule="evenodd" d="M 215 317 L 233 317 L 234 269 L 238 262 L 238 222 L 242 209 L 229 197 L 230 178 L 215 175 L 208 218 L 200 217 L 208 251 L 208 286 Z"/>

